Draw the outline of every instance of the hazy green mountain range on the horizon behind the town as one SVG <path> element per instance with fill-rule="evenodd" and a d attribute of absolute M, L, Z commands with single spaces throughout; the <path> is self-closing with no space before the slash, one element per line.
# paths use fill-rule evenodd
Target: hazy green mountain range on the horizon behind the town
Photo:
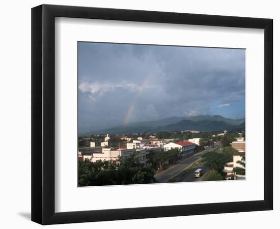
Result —
<path fill-rule="evenodd" d="M 132 134 L 156 133 L 159 131 L 199 130 L 203 132 L 244 129 L 245 119 L 228 119 L 222 116 L 170 117 L 156 121 L 135 122 L 104 130 L 92 131 L 90 134 Z"/>

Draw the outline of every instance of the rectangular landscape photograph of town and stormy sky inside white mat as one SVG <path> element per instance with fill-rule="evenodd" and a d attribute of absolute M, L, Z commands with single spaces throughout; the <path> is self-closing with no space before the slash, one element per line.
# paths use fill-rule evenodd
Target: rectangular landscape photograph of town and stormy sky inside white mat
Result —
<path fill-rule="evenodd" d="M 77 51 L 78 187 L 245 180 L 245 49 Z"/>

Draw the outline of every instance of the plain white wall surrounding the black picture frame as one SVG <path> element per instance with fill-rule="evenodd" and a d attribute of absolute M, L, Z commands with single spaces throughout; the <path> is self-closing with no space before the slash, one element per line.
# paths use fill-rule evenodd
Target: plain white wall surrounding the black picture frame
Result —
<path fill-rule="evenodd" d="M 278 1 L 129 1 L 129 0 L 96 0 L 96 1 L 3 1 L 1 5 L 1 138 L 2 152 L 17 154 L 16 160 L 1 160 L 1 221 L 3 228 L 39 228 L 39 224 L 30 221 L 31 212 L 31 8 L 42 3 L 59 5 L 79 5 L 108 8 L 127 8 L 156 11 L 172 11 L 185 13 L 202 13 L 215 15 L 233 15 L 246 17 L 264 17 L 274 19 L 274 76 L 279 73 L 280 53 L 280 15 Z M 279 74 L 278 74 L 279 75 Z M 275 77 L 274 90 L 280 87 L 279 77 Z M 274 94 L 274 108 L 279 92 Z M 276 129 L 280 128 L 279 120 L 274 121 L 274 140 L 279 138 Z M 11 146 L 21 146 L 16 152 L 11 152 Z M 274 144 L 274 147 L 275 144 Z M 279 151 L 279 146 L 274 152 Z M 275 161 L 279 156 L 274 154 Z M 280 170 L 274 169 L 274 193 L 279 192 Z M 277 178 L 277 183 L 276 179 Z M 276 228 L 280 214 L 279 197 L 274 196 L 274 211 L 234 213 L 223 215 L 185 216 L 172 218 L 156 218 L 142 220 L 122 220 L 115 222 L 80 223 L 48 226 L 48 228 L 236 228 L 236 223 L 228 223 L 236 219 L 243 228 Z M 275 225 L 275 226 L 273 226 Z"/>

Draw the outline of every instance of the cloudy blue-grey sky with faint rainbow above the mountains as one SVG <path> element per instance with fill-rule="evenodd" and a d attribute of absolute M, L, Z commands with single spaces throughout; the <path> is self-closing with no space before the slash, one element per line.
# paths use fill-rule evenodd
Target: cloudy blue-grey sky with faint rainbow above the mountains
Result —
<path fill-rule="evenodd" d="M 78 42 L 78 131 L 245 117 L 245 50 Z"/>

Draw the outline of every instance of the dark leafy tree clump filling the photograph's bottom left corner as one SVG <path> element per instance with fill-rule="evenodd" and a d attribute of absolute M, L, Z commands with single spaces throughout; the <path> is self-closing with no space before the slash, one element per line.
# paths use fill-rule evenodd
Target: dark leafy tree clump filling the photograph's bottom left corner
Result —
<path fill-rule="evenodd" d="M 154 183 L 154 169 L 151 164 L 139 163 L 136 153 L 119 157 L 117 162 L 86 159 L 78 164 L 79 186 L 123 185 Z"/>

